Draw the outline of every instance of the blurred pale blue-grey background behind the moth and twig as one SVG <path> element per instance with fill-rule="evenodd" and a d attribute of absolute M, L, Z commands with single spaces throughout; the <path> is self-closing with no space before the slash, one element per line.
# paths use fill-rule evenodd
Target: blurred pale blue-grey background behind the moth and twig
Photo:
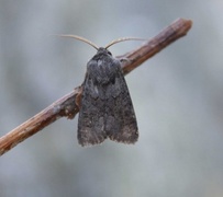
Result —
<path fill-rule="evenodd" d="M 104 46 L 178 18 L 193 21 L 189 34 L 126 77 L 138 142 L 81 148 L 77 117 L 59 119 L 0 158 L 1 197 L 223 196 L 222 0 L 1 0 L 0 135 L 83 81 L 96 50 L 53 34 Z"/>

